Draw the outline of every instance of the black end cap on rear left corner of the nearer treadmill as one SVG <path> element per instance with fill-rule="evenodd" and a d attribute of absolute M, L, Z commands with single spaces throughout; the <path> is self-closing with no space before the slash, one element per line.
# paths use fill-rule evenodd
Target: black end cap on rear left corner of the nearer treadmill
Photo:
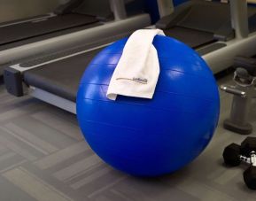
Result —
<path fill-rule="evenodd" d="M 22 74 L 18 70 L 12 67 L 4 69 L 4 85 L 13 96 L 22 97 L 24 95 L 22 81 Z"/>

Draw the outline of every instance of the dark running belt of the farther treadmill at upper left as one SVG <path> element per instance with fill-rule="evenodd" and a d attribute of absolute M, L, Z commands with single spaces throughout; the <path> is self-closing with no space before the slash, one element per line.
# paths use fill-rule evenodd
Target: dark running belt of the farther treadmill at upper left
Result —
<path fill-rule="evenodd" d="M 25 40 L 31 37 L 46 35 L 68 28 L 80 27 L 96 23 L 98 20 L 93 16 L 81 14 L 66 14 L 0 27 L 0 45 Z"/>

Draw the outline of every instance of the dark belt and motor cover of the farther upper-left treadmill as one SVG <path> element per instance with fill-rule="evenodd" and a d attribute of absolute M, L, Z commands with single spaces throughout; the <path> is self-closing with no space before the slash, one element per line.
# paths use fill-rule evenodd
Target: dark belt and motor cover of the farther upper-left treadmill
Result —
<path fill-rule="evenodd" d="M 32 19 L 16 20 L 0 24 L 0 50 L 7 50 L 53 35 L 72 33 L 87 26 L 100 25 L 96 15 L 77 12 L 83 0 L 71 0 L 60 5 L 54 12 Z M 64 33 L 62 33 L 64 34 Z M 33 38 L 33 40 L 31 40 Z"/>

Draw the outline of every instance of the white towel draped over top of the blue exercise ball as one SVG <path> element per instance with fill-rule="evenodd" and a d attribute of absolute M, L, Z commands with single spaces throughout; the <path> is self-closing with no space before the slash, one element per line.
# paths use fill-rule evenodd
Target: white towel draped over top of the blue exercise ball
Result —
<path fill-rule="evenodd" d="M 152 44 L 156 35 L 165 34 L 159 29 L 141 29 L 128 38 L 106 97 L 153 97 L 159 79 L 159 57 Z"/>

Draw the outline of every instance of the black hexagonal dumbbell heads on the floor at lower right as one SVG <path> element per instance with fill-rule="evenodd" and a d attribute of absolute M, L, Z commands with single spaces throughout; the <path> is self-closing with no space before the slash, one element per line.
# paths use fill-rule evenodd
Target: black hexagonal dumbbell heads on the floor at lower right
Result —
<path fill-rule="evenodd" d="M 223 158 L 228 166 L 249 164 L 244 171 L 244 182 L 249 189 L 256 189 L 256 137 L 245 138 L 241 145 L 229 144 L 223 151 Z"/>

